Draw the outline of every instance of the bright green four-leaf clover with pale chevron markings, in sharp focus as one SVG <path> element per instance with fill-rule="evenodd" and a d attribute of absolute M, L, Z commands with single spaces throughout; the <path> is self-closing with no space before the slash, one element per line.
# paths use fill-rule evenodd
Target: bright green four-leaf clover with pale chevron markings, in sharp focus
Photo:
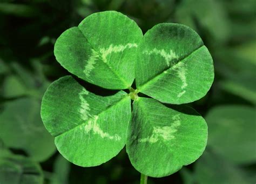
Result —
<path fill-rule="evenodd" d="M 122 13 L 98 12 L 64 31 L 54 53 L 80 79 L 103 91 L 120 90 L 98 96 L 72 76 L 49 86 L 41 116 L 70 162 L 98 166 L 126 145 L 142 176 L 163 177 L 204 152 L 205 120 L 191 107 L 178 105 L 204 97 L 214 78 L 211 54 L 192 29 L 163 23 L 143 35 Z"/>

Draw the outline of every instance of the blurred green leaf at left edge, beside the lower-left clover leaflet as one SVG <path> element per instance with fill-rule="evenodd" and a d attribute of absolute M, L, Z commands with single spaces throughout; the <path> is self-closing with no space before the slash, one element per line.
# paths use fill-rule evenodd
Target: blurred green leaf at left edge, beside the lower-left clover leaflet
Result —
<path fill-rule="evenodd" d="M 55 151 L 53 138 L 40 118 L 40 103 L 21 98 L 4 104 L 0 138 L 7 147 L 23 149 L 33 160 L 44 161 Z"/>

